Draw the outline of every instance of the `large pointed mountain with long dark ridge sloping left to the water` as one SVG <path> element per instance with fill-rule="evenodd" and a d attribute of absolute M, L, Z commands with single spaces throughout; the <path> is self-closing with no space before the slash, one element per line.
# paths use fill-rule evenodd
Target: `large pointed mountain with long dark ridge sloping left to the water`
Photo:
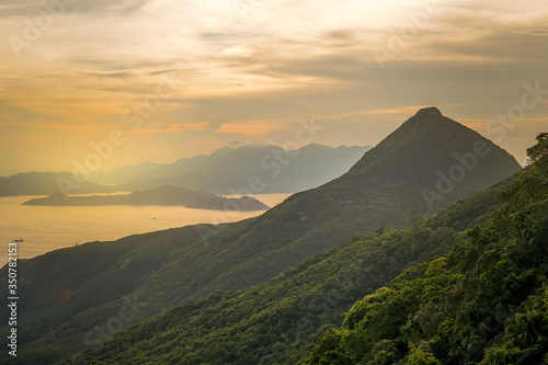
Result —
<path fill-rule="evenodd" d="M 441 184 L 464 157 L 466 175 L 453 189 Z M 147 303 L 134 319 L 140 320 L 186 298 L 258 285 L 353 232 L 402 226 L 413 214 L 431 213 L 518 169 L 476 132 L 436 109 L 421 110 L 347 173 L 260 217 L 82 244 L 21 262 L 21 347 L 28 356 L 58 358 L 115 318 L 126 296 Z M 441 197 L 431 210 L 433 194 Z M 219 216 L 215 223 L 222 221 Z"/>

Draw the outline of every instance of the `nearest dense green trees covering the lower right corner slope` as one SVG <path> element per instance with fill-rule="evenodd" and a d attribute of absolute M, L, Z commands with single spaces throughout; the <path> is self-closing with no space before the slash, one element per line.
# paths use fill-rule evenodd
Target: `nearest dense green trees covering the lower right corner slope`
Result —
<path fill-rule="evenodd" d="M 548 134 L 447 255 L 356 303 L 306 364 L 548 364 Z"/>

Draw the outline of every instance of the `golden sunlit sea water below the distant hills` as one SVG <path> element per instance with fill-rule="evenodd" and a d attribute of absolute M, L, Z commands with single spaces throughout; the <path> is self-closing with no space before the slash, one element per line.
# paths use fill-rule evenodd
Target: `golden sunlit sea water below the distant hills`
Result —
<path fill-rule="evenodd" d="M 290 194 L 255 195 L 273 207 Z M 30 206 L 21 203 L 36 196 L 0 197 L 0 265 L 8 261 L 8 246 L 18 247 L 19 259 L 91 241 L 112 241 L 122 237 L 194 224 L 238 221 L 263 212 L 219 212 L 181 206 Z"/>

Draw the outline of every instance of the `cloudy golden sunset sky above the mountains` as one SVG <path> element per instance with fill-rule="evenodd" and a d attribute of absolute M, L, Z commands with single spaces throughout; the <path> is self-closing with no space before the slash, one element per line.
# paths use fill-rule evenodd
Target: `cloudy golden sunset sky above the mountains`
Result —
<path fill-rule="evenodd" d="M 432 105 L 522 164 L 548 130 L 545 0 L 2 0 L 0 24 L 0 175 L 290 146 L 302 123 L 376 145 Z"/>

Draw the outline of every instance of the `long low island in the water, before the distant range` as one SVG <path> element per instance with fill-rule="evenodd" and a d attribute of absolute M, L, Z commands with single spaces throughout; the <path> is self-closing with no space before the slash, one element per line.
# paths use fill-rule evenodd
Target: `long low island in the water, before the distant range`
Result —
<path fill-rule="evenodd" d="M 181 205 L 212 210 L 266 210 L 269 206 L 254 197 L 227 198 L 183 187 L 160 186 L 144 192 L 116 195 L 69 196 L 61 193 L 34 198 L 23 205 L 96 206 L 96 205 Z"/>

